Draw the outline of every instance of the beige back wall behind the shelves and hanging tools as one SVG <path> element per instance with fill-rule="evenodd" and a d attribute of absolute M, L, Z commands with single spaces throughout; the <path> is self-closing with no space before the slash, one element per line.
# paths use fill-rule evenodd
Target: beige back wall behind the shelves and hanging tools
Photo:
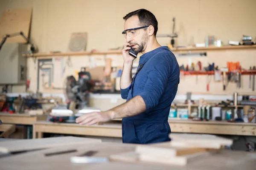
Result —
<path fill-rule="evenodd" d="M 256 37 L 256 22 L 254 11 L 256 0 L 0 0 L 0 12 L 7 8 L 33 8 L 31 37 L 40 52 L 66 51 L 73 32 L 87 31 L 87 50 L 96 48 L 106 51 L 125 43 L 121 32 L 122 17 L 138 8 L 152 11 L 159 23 L 159 34 L 172 32 L 172 17 L 176 18 L 178 38 L 177 45 L 192 45 L 204 42 L 206 35 L 214 35 L 227 44 L 228 40 L 241 40 L 243 34 Z M 162 45 L 170 42 L 169 38 L 158 38 Z M 256 51 L 222 51 L 209 52 L 207 58 L 192 58 L 225 66 L 227 61 L 239 61 L 248 68 L 256 63 Z M 107 56 L 113 58 L 113 65 L 122 66 L 122 56 Z M 96 60 L 96 58 L 100 60 Z M 64 62 L 66 62 L 64 59 Z M 97 65 L 104 65 L 102 56 L 91 57 Z M 67 68 L 64 77 L 60 74 L 60 64 L 55 63 L 54 86 L 61 87 L 67 75 L 74 74 L 82 66 L 89 65 L 89 57 L 71 57 L 72 66 Z M 178 58 L 180 64 L 186 64 L 188 58 Z M 28 77 L 31 79 L 30 90 L 36 90 L 36 66 L 28 59 Z M 178 94 L 192 91 L 197 94 L 233 94 L 234 91 L 251 93 L 246 85 L 248 76 L 242 77 L 242 89 L 236 89 L 233 84 L 227 91 L 222 91 L 222 83 L 210 84 L 210 92 L 206 91 L 206 77 L 182 77 Z M 188 85 L 192 83 L 192 85 Z M 62 93 L 62 91 L 46 91 L 47 93 Z M 24 92 L 24 86 L 14 86 L 13 92 Z"/>

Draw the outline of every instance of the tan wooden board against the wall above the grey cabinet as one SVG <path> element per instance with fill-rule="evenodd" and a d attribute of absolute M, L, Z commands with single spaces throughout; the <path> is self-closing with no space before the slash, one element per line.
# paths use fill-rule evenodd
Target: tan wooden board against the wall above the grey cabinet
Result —
<path fill-rule="evenodd" d="M 5 34 L 13 34 L 22 31 L 29 37 L 30 23 L 32 17 L 32 8 L 7 9 L 2 12 L 0 20 L 0 39 Z M 22 36 L 7 38 L 6 43 L 21 42 L 26 40 Z"/>

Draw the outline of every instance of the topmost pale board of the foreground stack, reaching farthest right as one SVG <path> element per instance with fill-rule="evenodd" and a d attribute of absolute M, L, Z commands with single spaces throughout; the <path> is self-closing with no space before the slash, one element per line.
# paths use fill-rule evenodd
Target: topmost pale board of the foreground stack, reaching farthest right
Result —
<path fill-rule="evenodd" d="M 222 146 L 233 144 L 233 139 L 227 139 L 208 134 L 171 133 L 171 146 L 173 147 L 199 147 L 220 149 Z"/>

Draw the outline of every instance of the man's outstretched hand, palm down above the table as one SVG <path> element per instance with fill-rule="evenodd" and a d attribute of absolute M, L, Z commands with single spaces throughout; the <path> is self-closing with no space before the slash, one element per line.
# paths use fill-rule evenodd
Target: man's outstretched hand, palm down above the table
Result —
<path fill-rule="evenodd" d="M 82 116 L 76 118 L 76 123 L 80 125 L 93 125 L 98 122 L 108 122 L 113 119 L 113 113 L 109 111 L 105 112 L 92 112 L 92 113 L 85 113 Z"/>

